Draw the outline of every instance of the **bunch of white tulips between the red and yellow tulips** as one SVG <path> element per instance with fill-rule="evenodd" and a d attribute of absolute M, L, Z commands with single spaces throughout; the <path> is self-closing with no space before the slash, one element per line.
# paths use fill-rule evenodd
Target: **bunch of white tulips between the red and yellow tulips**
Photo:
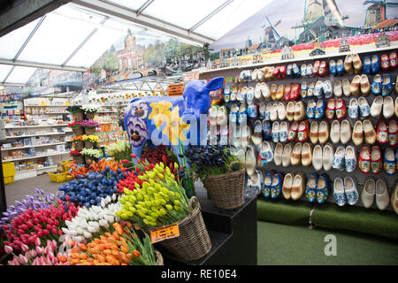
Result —
<path fill-rule="evenodd" d="M 80 207 L 77 216 L 72 221 L 65 221 L 67 228 L 62 228 L 68 239 L 83 242 L 106 232 L 120 218 L 115 212 L 121 210 L 119 196 L 113 194 L 101 200 L 101 206 L 93 205 L 89 209 Z"/>

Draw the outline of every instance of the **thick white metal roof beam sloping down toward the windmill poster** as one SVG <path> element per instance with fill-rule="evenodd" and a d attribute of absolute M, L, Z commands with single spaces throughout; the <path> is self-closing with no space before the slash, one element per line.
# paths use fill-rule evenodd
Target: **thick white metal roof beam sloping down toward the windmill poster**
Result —
<path fill-rule="evenodd" d="M 215 42 L 215 39 L 213 38 L 189 32 L 188 29 L 174 26 L 161 19 L 149 17 L 144 14 L 137 15 L 136 11 L 126 9 L 126 7 L 120 7 L 118 5 L 108 2 L 103 2 L 100 0 L 73 0 L 73 3 L 79 4 L 89 9 L 101 11 L 105 14 L 110 14 L 120 19 L 126 19 L 127 21 L 133 22 L 137 25 L 141 25 L 142 27 L 149 27 L 165 34 L 180 37 L 182 39 L 188 40 L 190 42 L 195 42 L 200 45 Z"/>

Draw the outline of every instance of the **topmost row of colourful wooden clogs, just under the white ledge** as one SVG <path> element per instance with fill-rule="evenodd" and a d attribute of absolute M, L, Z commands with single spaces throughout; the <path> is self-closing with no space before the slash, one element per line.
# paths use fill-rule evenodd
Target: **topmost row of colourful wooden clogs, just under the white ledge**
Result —
<path fill-rule="evenodd" d="M 239 82 L 264 81 L 264 80 L 283 80 L 287 77 L 297 79 L 301 77 L 324 77 L 331 73 L 333 76 L 342 76 L 343 73 L 354 74 L 364 71 L 366 74 L 378 73 L 379 70 L 389 71 L 396 67 L 396 52 L 392 51 L 389 55 L 383 54 L 381 57 L 373 55 L 364 57 L 364 63 L 356 53 L 348 54 L 345 60 L 342 59 L 326 61 L 315 61 L 312 64 L 290 64 L 265 66 L 261 69 L 244 70 L 240 73 Z"/>

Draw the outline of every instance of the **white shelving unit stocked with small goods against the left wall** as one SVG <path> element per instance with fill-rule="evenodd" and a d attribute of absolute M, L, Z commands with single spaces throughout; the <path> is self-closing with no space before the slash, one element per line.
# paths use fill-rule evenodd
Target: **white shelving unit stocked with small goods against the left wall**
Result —
<path fill-rule="evenodd" d="M 59 119 L 62 119 L 64 114 L 70 114 L 65 110 L 65 108 L 69 106 L 66 103 L 66 99 L 63 98 L 62 101 L 63 102 L 60 103 L 60 98 L 54 98 L 54 102 L 50 104 L 50 100 L 44 97 L 25 99 L 25 124 L 28 124 L 29 122 L 31 123 L 31 121 L 33 121 L 32 118 L 34 118 L 34 121 L 38 121 L 39 125 L 14 124 L 4 127 L 7 132 L 5 143 L 13 144 L 13 142 L 18 142 L 18 146 L 17 144 L 13 144 L 14 147 L 4 148 L 3 145 L 1 149 L 3 152 L 3 162 L 14 162 L 16 166 L 14 180 L 22 180 L 37 176 L 38 174 L 54 172 L 57 170 L 57 164 L 60 161 L 70 159 L 69 150 L 65 151 L 64 147 L 59 147 L 66 145 L 67 142 L 70 142 L 71 136 L 73 134 L 72 130 L 66 128 L 68 125 L 67 121 L 59 123 Z M 48 108 L 48 112 L 45 110 L 46 113 L 43 113 L 44 107 Z M 36 113 L 35 111 L 35 113 L 32 114 L 34 108 L 41 108 L 42 113 Z M 30 111 L 26 111 L 27 109 Z M 55 123 L 51 123 L 50 120 L 55 121 Z M 62 127 L 65 128 L 62 129 Z M 19 140 L 22 139 L 24 139 L 24 141 L 19 142 Z M 27 139 L 29 143 L 27 143 L 25 139 Z M 4 159 L 4 157 L 7 157 L 9 154 L 11 156 L 11 150 L 22 151 L 22 157 L 19 153 L 19 157 Z M 34 169 L 22 170 L 24 167 L 19 167 L 19 165 L 37 160 L 39 158 L 44 158 L 44 160 L 47 161 L 47 166 L 42 166 L 41 164 L 34 162 Z M 21 168 L 21 170 L 19 170 L 19 168 Z"/>

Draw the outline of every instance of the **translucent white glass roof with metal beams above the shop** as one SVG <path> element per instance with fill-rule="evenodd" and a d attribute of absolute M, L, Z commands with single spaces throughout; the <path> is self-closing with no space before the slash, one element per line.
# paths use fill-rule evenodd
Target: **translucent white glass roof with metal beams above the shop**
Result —
<path fill-rule="evenodd" d="M 74 0 L 0 37 L 0 84 L 24 84 L 36 68 L 85 72 L 128 29 L 203 46 L 271 2 Z"/>

